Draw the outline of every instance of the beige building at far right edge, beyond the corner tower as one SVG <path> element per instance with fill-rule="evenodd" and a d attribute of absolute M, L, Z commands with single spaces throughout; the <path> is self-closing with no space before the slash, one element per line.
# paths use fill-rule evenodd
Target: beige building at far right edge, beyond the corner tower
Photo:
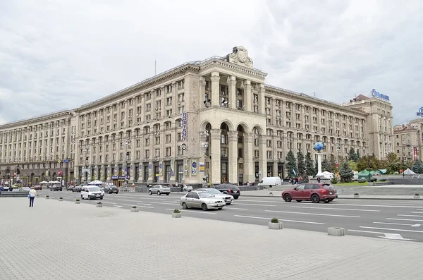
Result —
<path fill-rule="evenodd" d="M 423 118 L 393 127 L 394 150 L 403 163 L 423 161 Z"/>

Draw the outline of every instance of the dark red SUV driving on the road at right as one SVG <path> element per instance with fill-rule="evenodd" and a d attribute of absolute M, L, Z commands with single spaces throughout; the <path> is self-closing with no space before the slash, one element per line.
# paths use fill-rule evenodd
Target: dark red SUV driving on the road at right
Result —
<path fill-rule="evenodd" d="M 286 202 L 297 200 L 311 200 L 314 203 L 319 203 L 323 200 L 325 203 L 329 203 L 337 197 L 336 188 L 329 184 L 319 183 L 306 183 L 298 185 L 291 190 L 285 190 L 282 193 L 282 198 Z"/>

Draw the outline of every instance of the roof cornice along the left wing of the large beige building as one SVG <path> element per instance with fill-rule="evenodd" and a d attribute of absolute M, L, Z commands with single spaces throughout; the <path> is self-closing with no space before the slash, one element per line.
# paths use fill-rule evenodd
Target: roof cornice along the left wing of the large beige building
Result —
<path fill-rule="evenodd" d="M 97 99 L 88 104 L 84 104 L 80 106 L 78 109 L 75 109 L 75 112 L 81 113 L 83 111 L 93 109 L 97 106 L 102 106 L 106 103 L 114 102 L 116 99 L 121 99 L 122 97 L 128 97 L 128 95 L 132 95 L 133 93 L 140 92 L 142 90 L 145 90 L 146 88 L 154 87 L 155 85 L 163 83 L 167 80 L 171 80 L 172 78 L 176 78 L 185 73 L 188 73 L 188 72 L 198 73 L 199 71 L 200 71 L 200 67 L 196 65 L 196 62 L 187 62 L 180 66 L 176 66 L 175 68 L 172 68 L 171 70 L 168 70 L 164 73 L 155 75 L 152 78 L 143 80 L 140 83 L 136 83 L 135 85 L 130 85 L 129 87 L 126 87 L 123 90 L 119 90 L 118 92 L 115 92 L 111 95 Z"/>

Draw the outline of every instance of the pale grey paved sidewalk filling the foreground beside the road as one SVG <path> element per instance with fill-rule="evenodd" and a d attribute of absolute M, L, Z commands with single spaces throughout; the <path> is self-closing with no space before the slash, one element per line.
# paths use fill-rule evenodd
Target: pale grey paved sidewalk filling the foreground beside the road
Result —
<path fill-rule="evenodd" d="M 1 280 L 419 279 L 423 244 L 1 200 Z M 200 215 L 201 217 L 201 215 Z M 347 250 L 345 250 L 348 248 Z"/>

